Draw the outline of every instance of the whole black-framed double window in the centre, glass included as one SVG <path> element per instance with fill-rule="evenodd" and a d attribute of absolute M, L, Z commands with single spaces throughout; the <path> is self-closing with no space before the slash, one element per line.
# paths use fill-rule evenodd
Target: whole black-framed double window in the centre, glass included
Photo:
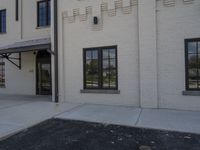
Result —
<path fill-rule="evenodd" d="M 84 89 L 117 89 L 117 47 L 84 49 Z"/>

